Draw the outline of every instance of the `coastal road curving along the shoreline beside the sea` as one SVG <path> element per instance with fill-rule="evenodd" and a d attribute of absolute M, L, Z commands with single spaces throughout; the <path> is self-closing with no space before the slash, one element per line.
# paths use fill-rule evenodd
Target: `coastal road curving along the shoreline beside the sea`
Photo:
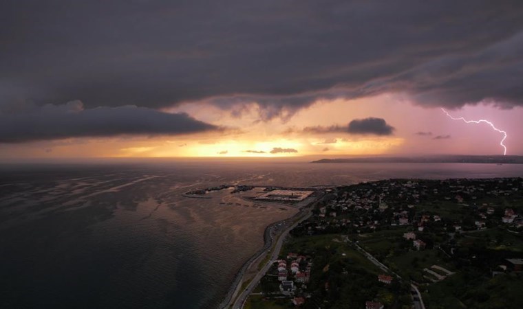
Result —
<path fill-rule="evenodd" d="M 234 304 L 232 306 L 233 309 L 242 309 L 244 307 L 247 297 L 256 288 L 259 280 L 261 280 L 261 278 L 264 277 L 264 275 L 267 273 L 270 266 L 273 264 L 273 261 L 275 261 L 278 258 L 279 251 L 281 250 L 281 246 L 284 244 L 284 240 L 285 240 L 286 236 L 288 235 L 289 231 L 291 229 L 294 229 L 303 220 L 308 219 L 311 215 L 312 215 L 312 211 L 311 211 L 311 208 L 309 208 L 306 210 L 306 213 L 303 214 L 303 216 L 299 220 L 297 220 L 297 222 L 295 222 L 293 225 L 291 225 L 290 227 L 288 227 L 285 231 L 283 231 L 281 233 L 281 235 L 279 236 L 274 247 L 271 246 L 271 247 L 269 247 L 269 249 L 264 251 L 264 253 L 262 253 L 262 255 L 265 255 L 268 253 L 268 250 L 270 250 L 271 248 L 273 249 L 273 251 L 272 251 L 273 253 L 270 255 L 270 260 L 269 260 L 268 264 L 264 265 L 264 267 L 261 268 L 261 270 L 249 282 L 248 286 L 238 295 L 238 297 L 236 298 L 236 301 L 234 302 Z"/>

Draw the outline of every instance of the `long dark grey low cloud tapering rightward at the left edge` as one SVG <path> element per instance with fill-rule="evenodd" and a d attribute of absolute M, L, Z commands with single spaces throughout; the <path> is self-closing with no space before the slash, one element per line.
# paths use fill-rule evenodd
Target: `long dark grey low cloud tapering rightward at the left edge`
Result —
<path fill-rule="evenodd" d="M 220 130 L 185 113 L 121 106 L 84 109 L 80 101 L 45 105 L 26 113 L 0 114 L 0 143 L 67 137 L 180 135 Z"/>

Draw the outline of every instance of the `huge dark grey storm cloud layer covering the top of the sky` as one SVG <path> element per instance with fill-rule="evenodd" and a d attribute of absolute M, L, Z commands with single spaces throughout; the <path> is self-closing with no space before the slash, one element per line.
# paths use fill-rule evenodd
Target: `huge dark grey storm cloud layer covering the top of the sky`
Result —
<path fill-rule="evenodd" d="M 385 92 L 523 105 L 521 16 L 520 0 L 7 0 L 0 113 L 204 100 L 266 120 Z"/>

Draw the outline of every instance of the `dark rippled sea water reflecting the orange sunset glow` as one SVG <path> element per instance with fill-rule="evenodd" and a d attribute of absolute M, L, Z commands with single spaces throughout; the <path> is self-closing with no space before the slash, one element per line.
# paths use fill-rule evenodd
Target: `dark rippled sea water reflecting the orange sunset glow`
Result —
<path fill-rule="evenodd" d="M 523 176 L 523 165 L 0 165 L 0 308 L 215 308 L 263 245 L 266 225 L 295 209 L 245 207 L 252 203 L 226 190 L 211 199 L 183 197 L 188 190 L 224 183 L 304 187 L 509 176 Z"/>

